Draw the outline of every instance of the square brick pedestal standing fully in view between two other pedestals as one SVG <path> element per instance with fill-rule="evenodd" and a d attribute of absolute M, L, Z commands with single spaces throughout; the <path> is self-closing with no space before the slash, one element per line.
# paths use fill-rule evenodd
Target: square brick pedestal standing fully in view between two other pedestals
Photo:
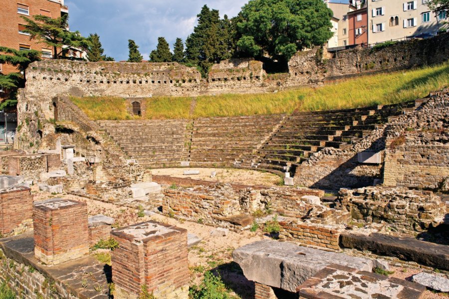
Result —
<path fill-rule="evenodd" d="M 56 265 L 89 254 L 87 205 L 61 198 L 33 206 L 34 255 Z"/>

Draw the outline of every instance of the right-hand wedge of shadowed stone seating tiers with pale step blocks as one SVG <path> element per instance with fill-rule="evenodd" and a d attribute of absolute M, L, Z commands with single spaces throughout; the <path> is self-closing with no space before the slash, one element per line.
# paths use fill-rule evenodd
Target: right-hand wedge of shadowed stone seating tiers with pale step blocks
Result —
<path fill-rule="evenodd" d="M 373 107 L 319 112 L 293 112 L 257 152 L 242 155 L 243 168 L 294 174 L 297 165 L 324 148 L 344 149 L 371 134 L 389 118 L 421 106 L 426 99 Z"/>

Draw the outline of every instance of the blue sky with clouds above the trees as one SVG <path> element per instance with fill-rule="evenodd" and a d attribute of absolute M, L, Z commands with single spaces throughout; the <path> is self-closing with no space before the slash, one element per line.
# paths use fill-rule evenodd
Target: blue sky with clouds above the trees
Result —
<path fill-rule="evenodd" d="M 220 10 L 223 17 L 235 16 L 247 0 L 65 0 L 69 6 L 70 30 L 82 35 L 98 33 L 105 54 L 116 60 L 128 59 L 128 39 L 134 39 L 148 59 L 158 36 L 173 47 L 193 31 L 201 7 Z"/>

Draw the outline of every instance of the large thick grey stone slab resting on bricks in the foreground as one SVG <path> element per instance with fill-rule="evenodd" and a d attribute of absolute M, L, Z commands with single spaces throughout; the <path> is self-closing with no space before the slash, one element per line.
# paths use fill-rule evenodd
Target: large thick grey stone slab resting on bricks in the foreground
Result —
<path fill-rule="evenodd" d="M 296 292 L 296 288 L 328 265 L 371 271 L 373 262 L 271 240 L 257 241 L 233 251 L 245 277 L 260 284 Z"/>

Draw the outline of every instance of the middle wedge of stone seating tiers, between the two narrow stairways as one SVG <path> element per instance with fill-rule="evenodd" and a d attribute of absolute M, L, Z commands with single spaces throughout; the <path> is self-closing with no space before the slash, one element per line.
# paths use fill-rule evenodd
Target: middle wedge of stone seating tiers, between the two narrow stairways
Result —
<path fill-rule="evenodd" d="M 195 120 L 190 150 L 192 166 L 232 166 L 243 154 L 250 154 L 284 115 L 200 118 Z"/>

